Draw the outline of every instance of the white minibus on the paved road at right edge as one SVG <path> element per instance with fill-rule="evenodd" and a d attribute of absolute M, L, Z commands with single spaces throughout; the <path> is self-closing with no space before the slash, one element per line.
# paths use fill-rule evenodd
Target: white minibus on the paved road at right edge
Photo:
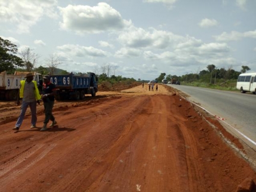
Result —
<path fill-rule="evenodd" d="M 252 92 L 256 94 L 256 73 L 242 73 L 238 76 L 237 89 L 241 93 Z"/>

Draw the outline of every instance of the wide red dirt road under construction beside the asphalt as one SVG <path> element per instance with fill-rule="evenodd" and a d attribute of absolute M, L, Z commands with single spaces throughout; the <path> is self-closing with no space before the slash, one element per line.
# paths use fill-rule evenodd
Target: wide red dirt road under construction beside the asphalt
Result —
<path fill-rule="evenodd" d="M 42 106 L 38 129 L 28 115 L 18 132 L 19 107 L 2 102 L 0 112 L 0 191 L 236 191 L 256 181 L 216 130 L 243 146 L 161 85 L 56 102 L 47 132 Z"/>

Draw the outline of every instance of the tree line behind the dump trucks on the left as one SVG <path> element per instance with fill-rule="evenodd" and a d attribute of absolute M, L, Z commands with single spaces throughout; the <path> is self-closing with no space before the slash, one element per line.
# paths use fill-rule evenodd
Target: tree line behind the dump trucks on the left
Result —
<path fill-rule="evenodd" d="M 12 44 L 8 39 L 0 37 L 0 73 L 7 71 L 8 74 L 13 74 L 15 71 L 36 71 L 42 75 L 46 74 L 69 74 L 66 70 L 58 69 L 57 66 L 61 64 L 59 56 L 55 54 L 49 55 L 48 58 L 44 59 L 45 66 L 36 67 L 40 64 L 39 54 L 34 53 L 29 47 L 18 53 L 17 46 Z M 134 78 L 126 78 L 121 75 L 116 75 L 116 66 L 110 64 L 102 65 L 100 68 L 95 67 L 94 73 L 98 78 L 98 82 L 109 81 L 111 83 L 119 81 L 136 81 Z M 99 71 L 101 74 L 99 74 Z M 90 72 L 88 72 L 90 73 Z M 111 75 L 112 73 L 112 75 Z M 81 72 L 75 74 L 84 74 Z"/>

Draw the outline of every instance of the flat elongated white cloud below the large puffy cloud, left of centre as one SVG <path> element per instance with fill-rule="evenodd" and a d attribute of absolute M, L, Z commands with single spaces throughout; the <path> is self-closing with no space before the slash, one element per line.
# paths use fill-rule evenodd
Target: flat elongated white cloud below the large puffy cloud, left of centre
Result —
<path fill-rule="evenodd" d="M 79 45 L 63 45 L 58 46 L 57 49 L 67 56 L 75 56 L 75 57 L 107 57 L 110 54 L 108 52 L 102 51 L 100 49 L 96 49 L 93 47 L 84 47 Z"/>

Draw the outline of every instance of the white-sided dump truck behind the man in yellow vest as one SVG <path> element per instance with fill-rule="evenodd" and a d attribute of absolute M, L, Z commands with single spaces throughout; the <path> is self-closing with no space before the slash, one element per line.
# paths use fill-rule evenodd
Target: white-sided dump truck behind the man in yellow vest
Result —
<path fill-rule="evenodd" d="M 6 71 L 0 73 L 0 100 L 17 100 L 17 93 L 20 87 L 20 81 L 24 80 L 26 75 L 31 72 L 15 71 L 14 74 L 7 74 Z M 42 88 L 42 75 L 32 72 L 33 80 L 37 82 L 40 92 Z"/>

